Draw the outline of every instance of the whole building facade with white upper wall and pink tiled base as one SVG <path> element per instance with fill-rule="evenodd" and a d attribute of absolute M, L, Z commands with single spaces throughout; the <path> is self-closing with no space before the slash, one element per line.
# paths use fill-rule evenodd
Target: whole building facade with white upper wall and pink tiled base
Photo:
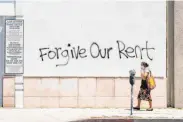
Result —
<path fill-rule="evenodd" d="M 129 108 L 129 70 L 136 70 L 136 104 L 141 61 L 150 64 L 156 79 L 153 107 L 183 107 L 182 2 L 0 5 L 8 6 L 0 7 L 3 107 Z M 12 25 L 15 19 L 23 24 Z M 12 36 L 17 25 L 19 34 Z M 18 53 L 13 51 L 18 64 L 10 63 L 15 60 L 9 50 L 17 45 L 11 43 L 15 37 L 23 42 Z"/>

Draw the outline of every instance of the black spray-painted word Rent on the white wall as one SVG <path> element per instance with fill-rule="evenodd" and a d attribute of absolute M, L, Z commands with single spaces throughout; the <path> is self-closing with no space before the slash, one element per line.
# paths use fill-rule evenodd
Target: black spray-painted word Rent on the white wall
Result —
<path fill-rule="evenodd" d="M 155 50 L 155 48 L 148 47 L 148 41 L 146 41 L 146 47 L 145 48 L 141 48 L 139 45 L 135 45 L 135 47 L 127 47 L 123 41 L 116 41 L 118 44 L 118 52 L 119 52 L 119 58 L 122 58 L 122 55 L 125 56 L 126 58 L 138 58 L 138 54 L 137 52 L 140 53 L 140 58 L 143 59 L 143 55 L 142 55 L 142 51 L 146 51 L 147 57 L 149 60 L 153 60 L 153 58 L 151 58 L 149 56 L 149 50 Z"/>

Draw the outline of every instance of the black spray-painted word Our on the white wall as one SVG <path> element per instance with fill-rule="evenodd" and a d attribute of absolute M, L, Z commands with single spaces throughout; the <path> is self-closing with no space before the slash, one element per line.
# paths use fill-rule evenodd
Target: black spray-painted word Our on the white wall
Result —
<path fill-rule="evenodd" d="M 95 49 L 96 48 L 96 49 Z M 110 51 L 113 48 L 104 48 L 103 50 L 100 48 L 100 46 L 96 43 L 93 42 L 90 46 L 90 54 L 92 58 L 110 58 Z M 96 53 L 96 54 L 95 54 Z"/>

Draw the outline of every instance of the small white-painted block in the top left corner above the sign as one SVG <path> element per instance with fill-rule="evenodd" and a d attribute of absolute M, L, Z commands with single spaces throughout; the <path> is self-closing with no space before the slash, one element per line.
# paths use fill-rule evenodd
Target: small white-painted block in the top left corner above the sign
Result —
<path fill-rule="evenodd" d="M 14 3 L 0 2 L 0 16 L 14 16 Z"/>

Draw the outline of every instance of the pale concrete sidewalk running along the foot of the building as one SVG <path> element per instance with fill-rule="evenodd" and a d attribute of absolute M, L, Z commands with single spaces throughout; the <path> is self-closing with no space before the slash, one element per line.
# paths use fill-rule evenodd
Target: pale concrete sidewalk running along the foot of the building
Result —
<path fill-rule="evenodd" d="M 154 109 L 134 111 L 129 109 L 0 109 L 0 122 L 92 122 L 91 120 L 126 119 L 182 119 L 183 109 Z M 85 121 L 86 120 L 86 121 Z M 100 121 L 100 122 L 103 122 Z M 167 120 L 166 120 L 167 121 Z M 108 121 L 107 121 L 108 122 Z"/>

